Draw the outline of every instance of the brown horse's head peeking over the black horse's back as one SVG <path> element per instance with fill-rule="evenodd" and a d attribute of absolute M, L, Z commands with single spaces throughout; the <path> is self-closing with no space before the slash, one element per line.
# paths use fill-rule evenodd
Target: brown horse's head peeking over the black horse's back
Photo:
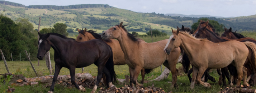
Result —
<path fill-rule="evenodd" d="M 80 30 L 78 28 L 76 28 L 77 31 L 79 32 L 79 34 L 76 36 L 76 41 L 82 42 L 82 41 L 88 41 L 91 40 L 89 38 L 89 34 L 86 31 L 86 28 L 84 30 Z"/>

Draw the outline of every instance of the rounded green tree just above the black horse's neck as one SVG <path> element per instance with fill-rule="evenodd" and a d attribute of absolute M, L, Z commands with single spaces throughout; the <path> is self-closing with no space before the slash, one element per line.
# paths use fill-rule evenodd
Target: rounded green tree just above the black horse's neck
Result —
<path fill-rule="evenodd" d="M 53 25 L 53 33 L 58 33 L 67 36 L 67 25 L 63 23 L 56 23 Z"/>

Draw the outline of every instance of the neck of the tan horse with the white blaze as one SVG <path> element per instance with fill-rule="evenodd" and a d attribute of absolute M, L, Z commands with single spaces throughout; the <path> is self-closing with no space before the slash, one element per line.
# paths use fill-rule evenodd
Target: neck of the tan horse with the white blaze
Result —
<path fill-rule="evenodd" d="M 180 39 L 180 47 L 189 56 L 189 58 L 192 57 L 193 53 L 200 52 L 203 41 L 191 39 L 183 34 L 180 34 Z"/>

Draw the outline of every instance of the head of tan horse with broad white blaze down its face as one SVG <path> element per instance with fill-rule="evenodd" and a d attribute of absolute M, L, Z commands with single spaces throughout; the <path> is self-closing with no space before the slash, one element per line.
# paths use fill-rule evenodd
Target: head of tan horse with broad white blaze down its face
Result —
<path fill-rule="evenodd" d="M 177 27 L 177 30 L 172 30 L 172 35 L 170 36 L 165 48 L 163 49 L 163 51 L 166 53 L 166 54 L 170 54 L 172 50 L 174 50 L 175 48 L 178 48 L 181 44 L 181 39 L 179 37 L 179 32 L 180 32 L 180 29 Z"/>

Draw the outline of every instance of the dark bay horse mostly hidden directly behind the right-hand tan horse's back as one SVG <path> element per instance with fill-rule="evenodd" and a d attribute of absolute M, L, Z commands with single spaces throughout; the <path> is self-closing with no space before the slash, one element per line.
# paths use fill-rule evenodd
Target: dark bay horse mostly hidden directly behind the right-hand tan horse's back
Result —
<path fill-rule="evenodd" d="M 232 40 L 232 39 L 228 39 L 228 40 L 226 40 L 226 39 L 221 39 L 221 38 L 219 38 L 219 36 L 217 36 L 214 32 L 212 32 L 212 31 L 210 31 L 210 30 L 208 30 L 206 27 L 204 27 L 204 28 L 201 28 L 199 31 L 198 31 L 198 33 L 196 33 L 195 34 L 195 38 L 207 38 L 208 40 L 210 40 L 210 41 L 212 41 L 212 42 L 214 42 L 214 43 L 219 43 L 219 42 L 225 42 L 225 41 L 230 41 L 230 40 Z M 233 40 L 237 40 L 237 39 L 233 39 Z M 254 40 L 251 40 L 251 39 L 246 39 L 246 40 L 237 40 L 237 41 L 241 41 L 241 42 L 245 42 L 245 41 L 251 41 L 251 42 L 253 42 L 253 43 L 255 43 L 256 44 L 256 41 L 254 41 Z M 250 63 L 256 63 L 255 62 L 255 54 L 252 52 L 252 50 L 250 49 L 250 48 L 248 48 L 248 50 L 249 50 L 249 55 L 248 55 L 248 57 L 247 57 L 247 60 L 246 60 L 246 62 L 245 62 L 245 64 L 244 64 L 244 66 L 247 68 L 247 75 L 249 75 L 249 76 L 247 76 L 248 78 L 247 78 L 247 82 L 249 82 L 249 80 L 250 80 L 250 78 L 251 78 L 251 76 L 252 75 L 254 75 L 253 74 L 253 72 L 255 72 L 255 70 L 256 69 L 253 69 L 253 68 L 250 68 L 250 65 L 253 65 L 253 64 L 250 64 Z M 234 72 L 234 69 L 236 69 L 236 68 L 234 68 L 233 66 L 231 67 L 231 66 L 229 66 L 228 67 L 229 68 L 229 72 L 230 72 L 230 74 L 231 74 L 231 80 L 229 80 L 229 75 L 228 75 L 228 72 L 224 72 L 225 73 L 225 75 L 226 75 L 226 77 L 227 77 L 227 79 L 228 79 L 228 82 L 229 83 L 231 83 L 231 81 L 233 81 L 233 76 L 234 76 L 234 74 L 236 73 L 236 72 Z M 227 69 L 227 68 L 226 68 Z M 253 72 L 252 72 L 253 71 Z M 224 79 L 225 77 L 224 77 L 224 75 L 223 75 L 223 79 Z M 226 84 L 226 82 L 224 82 L 225 80 L 223 80 L 223 83 L 224 84 Z M 224 85 L 223 84 L 223 85 Z M 254 84 L 252 84 L 252 85 L 254 85 Z"/>

